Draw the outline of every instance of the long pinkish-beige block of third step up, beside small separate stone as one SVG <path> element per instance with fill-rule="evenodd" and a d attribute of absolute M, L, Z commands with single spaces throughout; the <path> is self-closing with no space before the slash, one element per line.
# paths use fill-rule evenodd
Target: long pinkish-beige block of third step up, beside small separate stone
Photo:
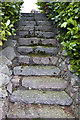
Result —
<path fill-rule="evenodd" d="M 30 89 L 42 89 L 42 90 L 64 90 L 68 85 L 68 82 L 62 78 L 56 77 L 23 77 L 22 86 Z"/>

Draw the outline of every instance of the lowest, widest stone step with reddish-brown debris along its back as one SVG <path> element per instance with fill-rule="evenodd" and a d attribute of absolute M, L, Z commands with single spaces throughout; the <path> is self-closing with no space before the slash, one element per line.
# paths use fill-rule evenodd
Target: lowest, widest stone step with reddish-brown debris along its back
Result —
<path fill-rule="evenodd" d="M 69 112 L 69 109 L 71 112 Z M 70 107 L 61 107 L 61 106 L 48 106 L 48 105 L 24 105 L 24 104 L 9 104 L 9 111 L 7 113 L 7 119 L 31 119 L 38 120 L 36 118 L 43 118 L 49 120 L 59 120 L 70 118 L 74 120 L 74 115 Z M 71 119 L 72 118 L 72 119 Z M 32 119 L 33 120 L 33 119 Z"/>

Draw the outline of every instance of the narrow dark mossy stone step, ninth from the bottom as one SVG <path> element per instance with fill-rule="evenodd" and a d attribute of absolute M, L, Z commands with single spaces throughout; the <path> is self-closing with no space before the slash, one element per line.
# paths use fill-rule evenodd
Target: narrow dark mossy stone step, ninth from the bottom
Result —
<path fill-rule="evenodd" d="M 19 26 L 19 31 L 44 31 L 52 32 L 54 31 L 53 26 Z"/>

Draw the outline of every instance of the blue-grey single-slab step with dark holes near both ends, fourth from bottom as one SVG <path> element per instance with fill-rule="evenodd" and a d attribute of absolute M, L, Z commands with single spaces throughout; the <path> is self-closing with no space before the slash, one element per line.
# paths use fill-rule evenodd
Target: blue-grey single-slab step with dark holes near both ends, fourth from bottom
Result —
<path fill-rule="evenodd" d="M 13 73 L 25 76 L 58 76 L 60 69 L 56 66 L 16 66 Z"/>

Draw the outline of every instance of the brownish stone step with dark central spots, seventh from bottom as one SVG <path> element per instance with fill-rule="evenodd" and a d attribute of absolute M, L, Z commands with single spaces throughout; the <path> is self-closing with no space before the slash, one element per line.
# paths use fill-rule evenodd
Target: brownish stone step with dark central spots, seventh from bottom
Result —
<path fill-rule="evenodd" d="M 57 46 L 56 39 L 42 39 L 42 38 L 19 38 L 19 45 L 29 46 L 29 45 L 48 45 Z"/>

